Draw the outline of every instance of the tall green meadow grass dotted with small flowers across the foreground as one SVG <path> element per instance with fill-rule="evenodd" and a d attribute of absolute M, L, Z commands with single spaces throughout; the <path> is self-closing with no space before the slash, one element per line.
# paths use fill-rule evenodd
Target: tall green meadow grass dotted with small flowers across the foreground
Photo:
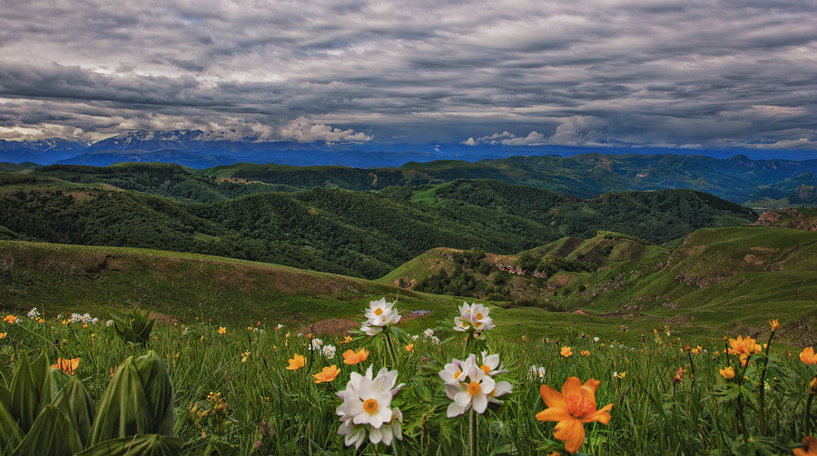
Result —
<path fill-rule="evenodd" d="M 378 338 L 362 333 L 347 342 L 344 336 L 297 333 L 275 323 L 248 322 L 220 333 L 218 323 L 203 322 L 157 325 L 142 346 L 123 342 L 104 322 L 64 324 L 17 316 L 19 322 L 0 321 L 5 384 L 13 361 L 22 356 L 44 351 L 53 362 L 78 357 L 75 375 L 98 401 L 126 357 L 159 353 L 175 388 L 174 433 L 186 442 L 186 454 L 359 453 L 344 446 L 337 434 L 335 409 L 341 401 L 336 393 L 345 388 L 351 372 L 365 372 L 369 364 L 377 371 L 389 359 Z M 446 363 L 463 358 L 462 333 L 450 326 L 434 331 L 442 342 L 422 333 L 416 338 L 393 333 L 397 362 L 387 367 L 396 369 L 398 382 L 405 383 L 394 398 L 404 414 L 403 440 L 388 448 L 367 441 L 364 453 L 468 453 L 468 414 L 446 417 L 451 401 L 438 375 Z M 309 350 L 315 338 L 337 347 L 334 358 Z M 507 372 L 498 376 L 513 384 L 513 392 L 477 417 L 477 454 L 564 454 L 562 442 L 553 438 L 556 423 L 537 421 L 536 413 L 546 408 L 540 386 L 560 390 L 571 376 L 601 381 L 597 406 L 613 403 L 607 425 L 586 424 L 580 449 L 585 454 L 785 454 L 802 441 L 806 426 L 815 429 L 815 413 L 806 406 L 817 364 L 806 364 L 798 352 L 777 350 L 773 344 L 768 356 L 753 354 L 745 367 L 737 356 L 724 353 L 728 344 L 723 340 L 688 346 L 657 328 L 651 337 L 629 345 L 595 340 L 594 334 L 559 341 L 488 334 L 486 344 L 489 353 L 500 354 Z M 562 356 L 564 346 L 574 354 Z M 369 350 L 369 358 L 344 364 L 341 353 L 360 347 Z M 308 361 L 290 371 L 288 360 L 295 353 Z M 340 374 L 316 383 L 313 374 L 332 364 Z M 531 372 L 531 366 L 544 369 Z M 738 372 L 731 380 L 719 373 L 727 366 Z"/>

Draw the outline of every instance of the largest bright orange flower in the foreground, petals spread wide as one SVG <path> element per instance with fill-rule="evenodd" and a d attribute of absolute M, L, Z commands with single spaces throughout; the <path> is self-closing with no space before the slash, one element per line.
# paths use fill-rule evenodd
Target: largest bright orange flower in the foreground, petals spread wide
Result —
<path fill-rule="evenodd" d="M 562 385 L 562 392 L 547 385 L 542 385 L 539 389 L 547 408 L 536 413 L 536 420 L 558 421 L 553 436 L 565 441 L 565 449 L 571 453 L 578 451 L 585 441 L 585 426 L 582 423 L 610 422 L 612 403 L 596 410 L 596 389 L 600 384 L 601 382 L 590 379 L 583 385 L 578 378 L 570 377 Z"/>

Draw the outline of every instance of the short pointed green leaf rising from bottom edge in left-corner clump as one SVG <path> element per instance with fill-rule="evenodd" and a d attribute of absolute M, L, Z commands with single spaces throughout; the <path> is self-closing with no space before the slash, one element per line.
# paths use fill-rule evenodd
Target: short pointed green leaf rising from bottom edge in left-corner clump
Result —
<path fill-rule="evenodd" d="M 46 405 L 12 456 L 71 456 L 82 449 L 65 413 Z"/>

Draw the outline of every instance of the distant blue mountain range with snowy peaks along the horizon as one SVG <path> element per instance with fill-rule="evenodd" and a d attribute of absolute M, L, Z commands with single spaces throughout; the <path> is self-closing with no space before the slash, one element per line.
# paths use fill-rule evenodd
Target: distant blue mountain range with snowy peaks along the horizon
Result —
<path fill-rule="evenodd" d="M 228 132 L 229 133 L 229 132 Z M 662 147 L 609 147 L 560 145 L 511 146 L 500 144 L 327 144 L 294 141 L 261 141 L 258 137 L 231 138 L 202 130 L 134 131 L 95 143 L 50 138 L 37 141 L 0 140 L 0 162 L 21 164 L 90 164 L 106 166 L 123 162 L 159 162 L 182 164 L 194 169 L 224 164 L 290 164 L 311 166 L 336 164 L 357 168 L 395 167 L 408 162 L 425 163 L 455 159 L 477 162 L 511 156 L 572 156 L 576 154 L 700 154 L 714 158 L 745 155 L 753 159 L 815 158 L 810 151 L 758 151 L 751 149 L 681 150 Z"/>

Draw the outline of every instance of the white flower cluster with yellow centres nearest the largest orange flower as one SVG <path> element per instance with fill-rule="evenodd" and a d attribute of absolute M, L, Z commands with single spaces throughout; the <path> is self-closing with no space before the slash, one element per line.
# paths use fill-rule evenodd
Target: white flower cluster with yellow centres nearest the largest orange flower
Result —
<path fill-rule="evenodd" d="M 481 358 L 479 363 L 475 354 L 468 356 L 466 361 L 454 359 L 439 372 L 439 378 L 446 383 L 446 395 L 453 401 L 448 404 L 448 418 L 461 415 L 472 406 L 474 411 L 482 414 L 488 402 L 502 403 L 497 397 L 513 389 L 509 382 L 496 382 L 493 378 L 498 373 L 507 372 L 499 363 L 498 354 L 482 352 Z"/>

